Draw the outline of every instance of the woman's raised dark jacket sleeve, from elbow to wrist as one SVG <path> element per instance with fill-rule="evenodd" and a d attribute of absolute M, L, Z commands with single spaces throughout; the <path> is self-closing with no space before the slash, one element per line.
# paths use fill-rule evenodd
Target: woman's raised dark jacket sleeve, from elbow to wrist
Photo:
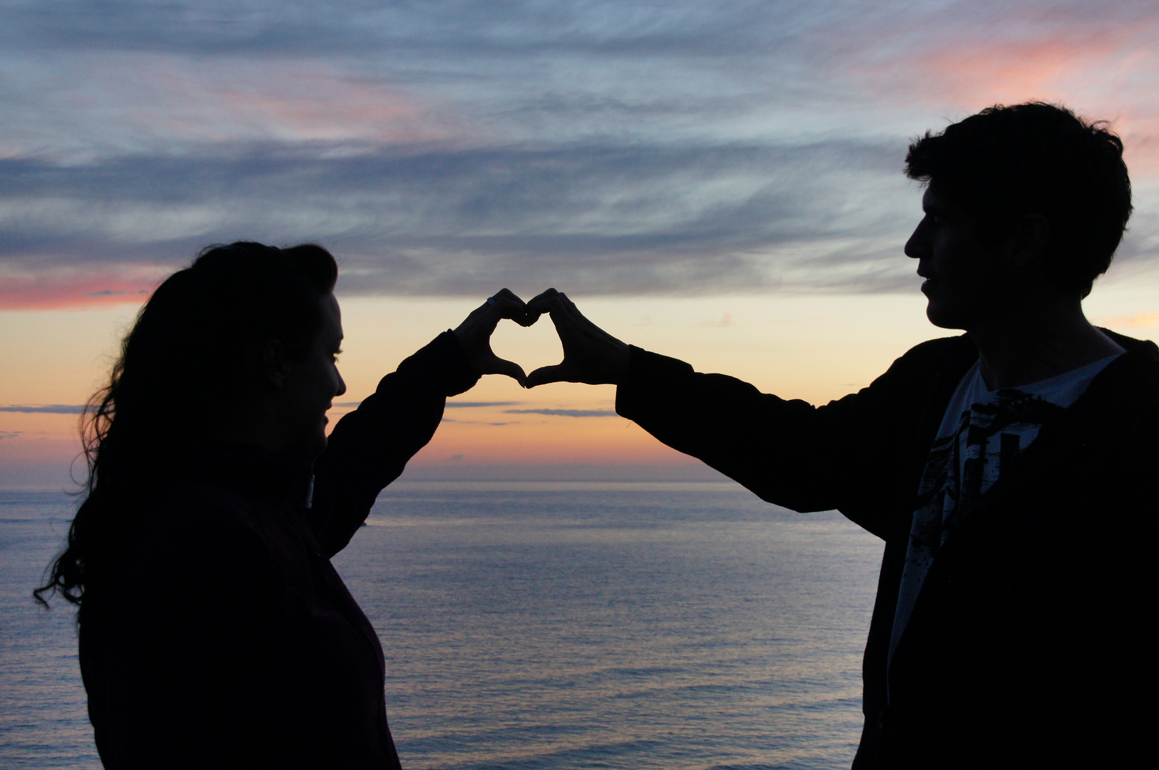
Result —
<path fill-rule="evenodd" d="M 374 499 L 435 435 L 447 396 L 472 388 L 479 373 L 451 331 L 382 377 L 358 409 L 334 426 L 314 464 L 309 522 L 327 556 L 350 542 Z"/>

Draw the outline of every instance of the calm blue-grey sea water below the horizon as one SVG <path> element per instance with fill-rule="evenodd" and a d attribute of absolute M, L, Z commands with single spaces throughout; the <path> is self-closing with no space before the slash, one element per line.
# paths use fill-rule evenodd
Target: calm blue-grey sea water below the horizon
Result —
<path fill-rule="evenodd" d="M 0 492 L 0 765 L 99 768 L 72 614 L 29 591 L 74 504 Z M 880 543 L 726 483 L 388 487 L 336 566 L 403 767 L 847 768 Z"/>

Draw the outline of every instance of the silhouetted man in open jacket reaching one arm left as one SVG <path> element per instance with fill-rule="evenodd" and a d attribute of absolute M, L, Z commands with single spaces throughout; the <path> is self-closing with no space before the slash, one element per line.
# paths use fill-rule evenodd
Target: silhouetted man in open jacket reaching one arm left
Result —
<path fill-rule="evenodd" d="M 1146 618 L 1159 350 L 1081 300 L 1131 212 L 1122 142 L 1066 109 L 996 107 L 926 133 L 905 244 L 927 315 L 868 388 L 814 408 L 629 347 L 546 292 L 554 381 L 763 499 L 885 541 L 854 768 L 1127 767 L 1150 750 Z"/>

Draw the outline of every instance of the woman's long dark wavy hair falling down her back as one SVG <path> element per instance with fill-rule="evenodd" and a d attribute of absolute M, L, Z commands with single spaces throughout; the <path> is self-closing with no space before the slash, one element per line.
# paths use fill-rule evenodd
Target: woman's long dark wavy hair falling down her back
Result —
<path fill-rule="evenodd" d="M 203 427 L 229 409 L 257 346 L 278 339 L 304 353 L 336 279 L 320 245 L 238 242 L 204 249 L 153 292 L 81 418 L 85 499 L 38 602 L 57 593 L 80 604 L 100 584 L 152 485 L 211 440 Z"/>

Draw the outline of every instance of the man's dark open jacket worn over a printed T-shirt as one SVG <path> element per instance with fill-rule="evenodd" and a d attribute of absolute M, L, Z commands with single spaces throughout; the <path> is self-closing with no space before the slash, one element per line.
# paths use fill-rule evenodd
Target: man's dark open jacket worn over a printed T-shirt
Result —
<path fill-rule="evenodd" d="M 1151 751 L 1159 350 L 1111 336 L 1127 353 L 938 552 L 891 663 L 919 478 L 978 358 L 969 338 L 918 345 L 821 408 L 632 349 L 620 415 L 764 500 L 836 508 L 885 541 L 855 770 L 1130 767 Z"/>

